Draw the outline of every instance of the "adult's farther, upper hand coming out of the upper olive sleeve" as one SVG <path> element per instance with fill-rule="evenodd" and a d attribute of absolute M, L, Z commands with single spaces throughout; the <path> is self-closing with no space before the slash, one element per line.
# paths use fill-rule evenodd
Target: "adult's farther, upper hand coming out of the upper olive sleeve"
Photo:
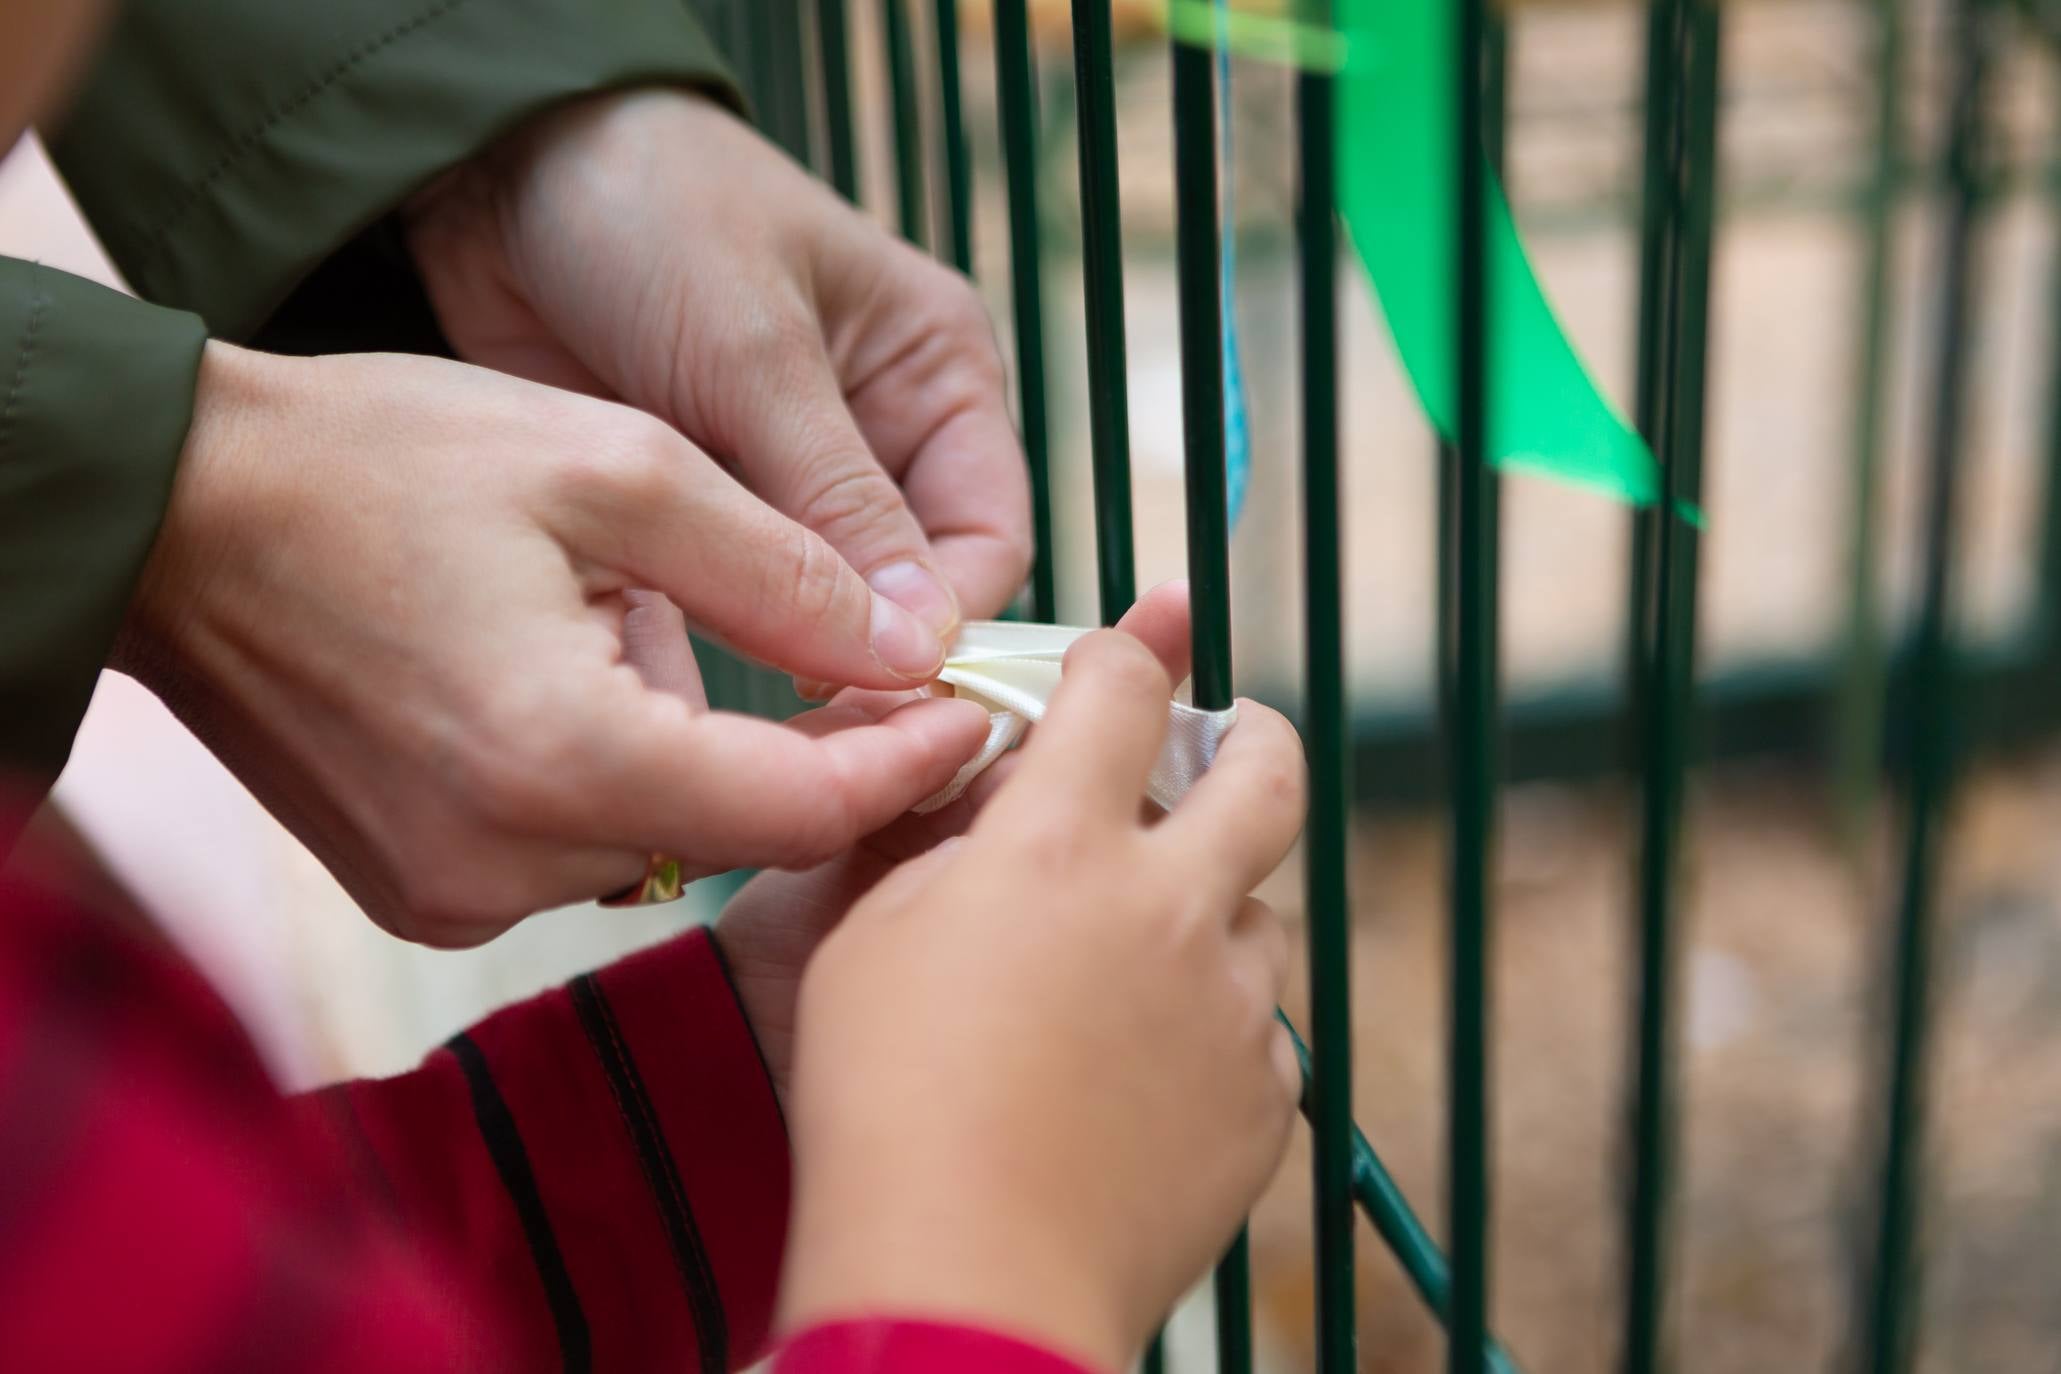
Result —
<path fill-rule="evenodd" d="M 1028 478 L 973 284 L 721 105 L 575 103 L 406 222 L 466 360 L 674 424 L 946 639 L 1022 587 Z"/>

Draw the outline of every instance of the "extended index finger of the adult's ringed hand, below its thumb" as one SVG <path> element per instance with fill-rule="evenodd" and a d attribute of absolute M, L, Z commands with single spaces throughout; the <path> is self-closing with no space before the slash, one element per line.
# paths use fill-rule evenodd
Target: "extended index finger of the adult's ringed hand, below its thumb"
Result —
<path fill-rule="evenodd" d="M 971 702 L 934 698 L 816 737 L 655 694 L 587 746 L 589 826 L 692 867 L 806 867 L 944 787 L 987 733 Z"/>

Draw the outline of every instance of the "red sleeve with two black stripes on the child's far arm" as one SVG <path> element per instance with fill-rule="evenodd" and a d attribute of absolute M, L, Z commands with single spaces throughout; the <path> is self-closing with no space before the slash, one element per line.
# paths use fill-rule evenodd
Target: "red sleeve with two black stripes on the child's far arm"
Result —
<path fill-rule="evenodd" d="M 511 1314 L 505 1368 L 723 1374 L 765 1343 L 787 1137 L 707 933 L 307 1106 Z"/>

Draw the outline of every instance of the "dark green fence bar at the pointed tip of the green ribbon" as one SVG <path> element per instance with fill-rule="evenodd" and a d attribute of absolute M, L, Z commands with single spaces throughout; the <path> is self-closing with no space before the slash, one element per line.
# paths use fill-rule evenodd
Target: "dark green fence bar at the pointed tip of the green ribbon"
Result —
<path fill-rule="evenodd" d="M 1628 1277 L 1624 1296 L 1624 1368 L 1651 1374 L 1663 1362 L 1667 1193 L 1674 1149 L 1674 968 L 1676 886 L 1682 787 L 1690 756 L 1696 669 L 1698 531 L 1680 511 L 1700 505 L 1704 360 L 1711 303 L 1711 222 L 1717 177 L 1719 10 L 1715 0 L 1657 6 L 1663 25 L 1649 91 L 1669 103 L 1655 122 L 1667 142 L 1647 159 L 1645 194 L 1659 233 L 1661 260 L 1649 280 L 1653 385 L 1645 414 L 1661 463 L 1663 499 L 1641 513 L 1636 577 L 1647 604 L 1636 608 L 1636 729 L 1643 762 L 1641 845 L 1636 865 L 1638 987 L 1634 995 L 1632 1195 L 1626 1215 Z M 1655 128 L 1649 124 L 1649 128 Z"/>

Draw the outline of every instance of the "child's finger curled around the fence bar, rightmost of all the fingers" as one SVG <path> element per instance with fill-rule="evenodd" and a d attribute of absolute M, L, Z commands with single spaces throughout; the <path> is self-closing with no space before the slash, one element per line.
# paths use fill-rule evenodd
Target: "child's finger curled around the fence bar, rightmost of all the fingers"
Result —
<path fill-rule="evenodd" d="M 1303 830 L 1303 742 L 1278 711 L 1239 700 L 1239 723 L 1216 762 L 1152 830 L 1154 845 L 1222 896 L 1243 896 L 1272 873 Z"/>

